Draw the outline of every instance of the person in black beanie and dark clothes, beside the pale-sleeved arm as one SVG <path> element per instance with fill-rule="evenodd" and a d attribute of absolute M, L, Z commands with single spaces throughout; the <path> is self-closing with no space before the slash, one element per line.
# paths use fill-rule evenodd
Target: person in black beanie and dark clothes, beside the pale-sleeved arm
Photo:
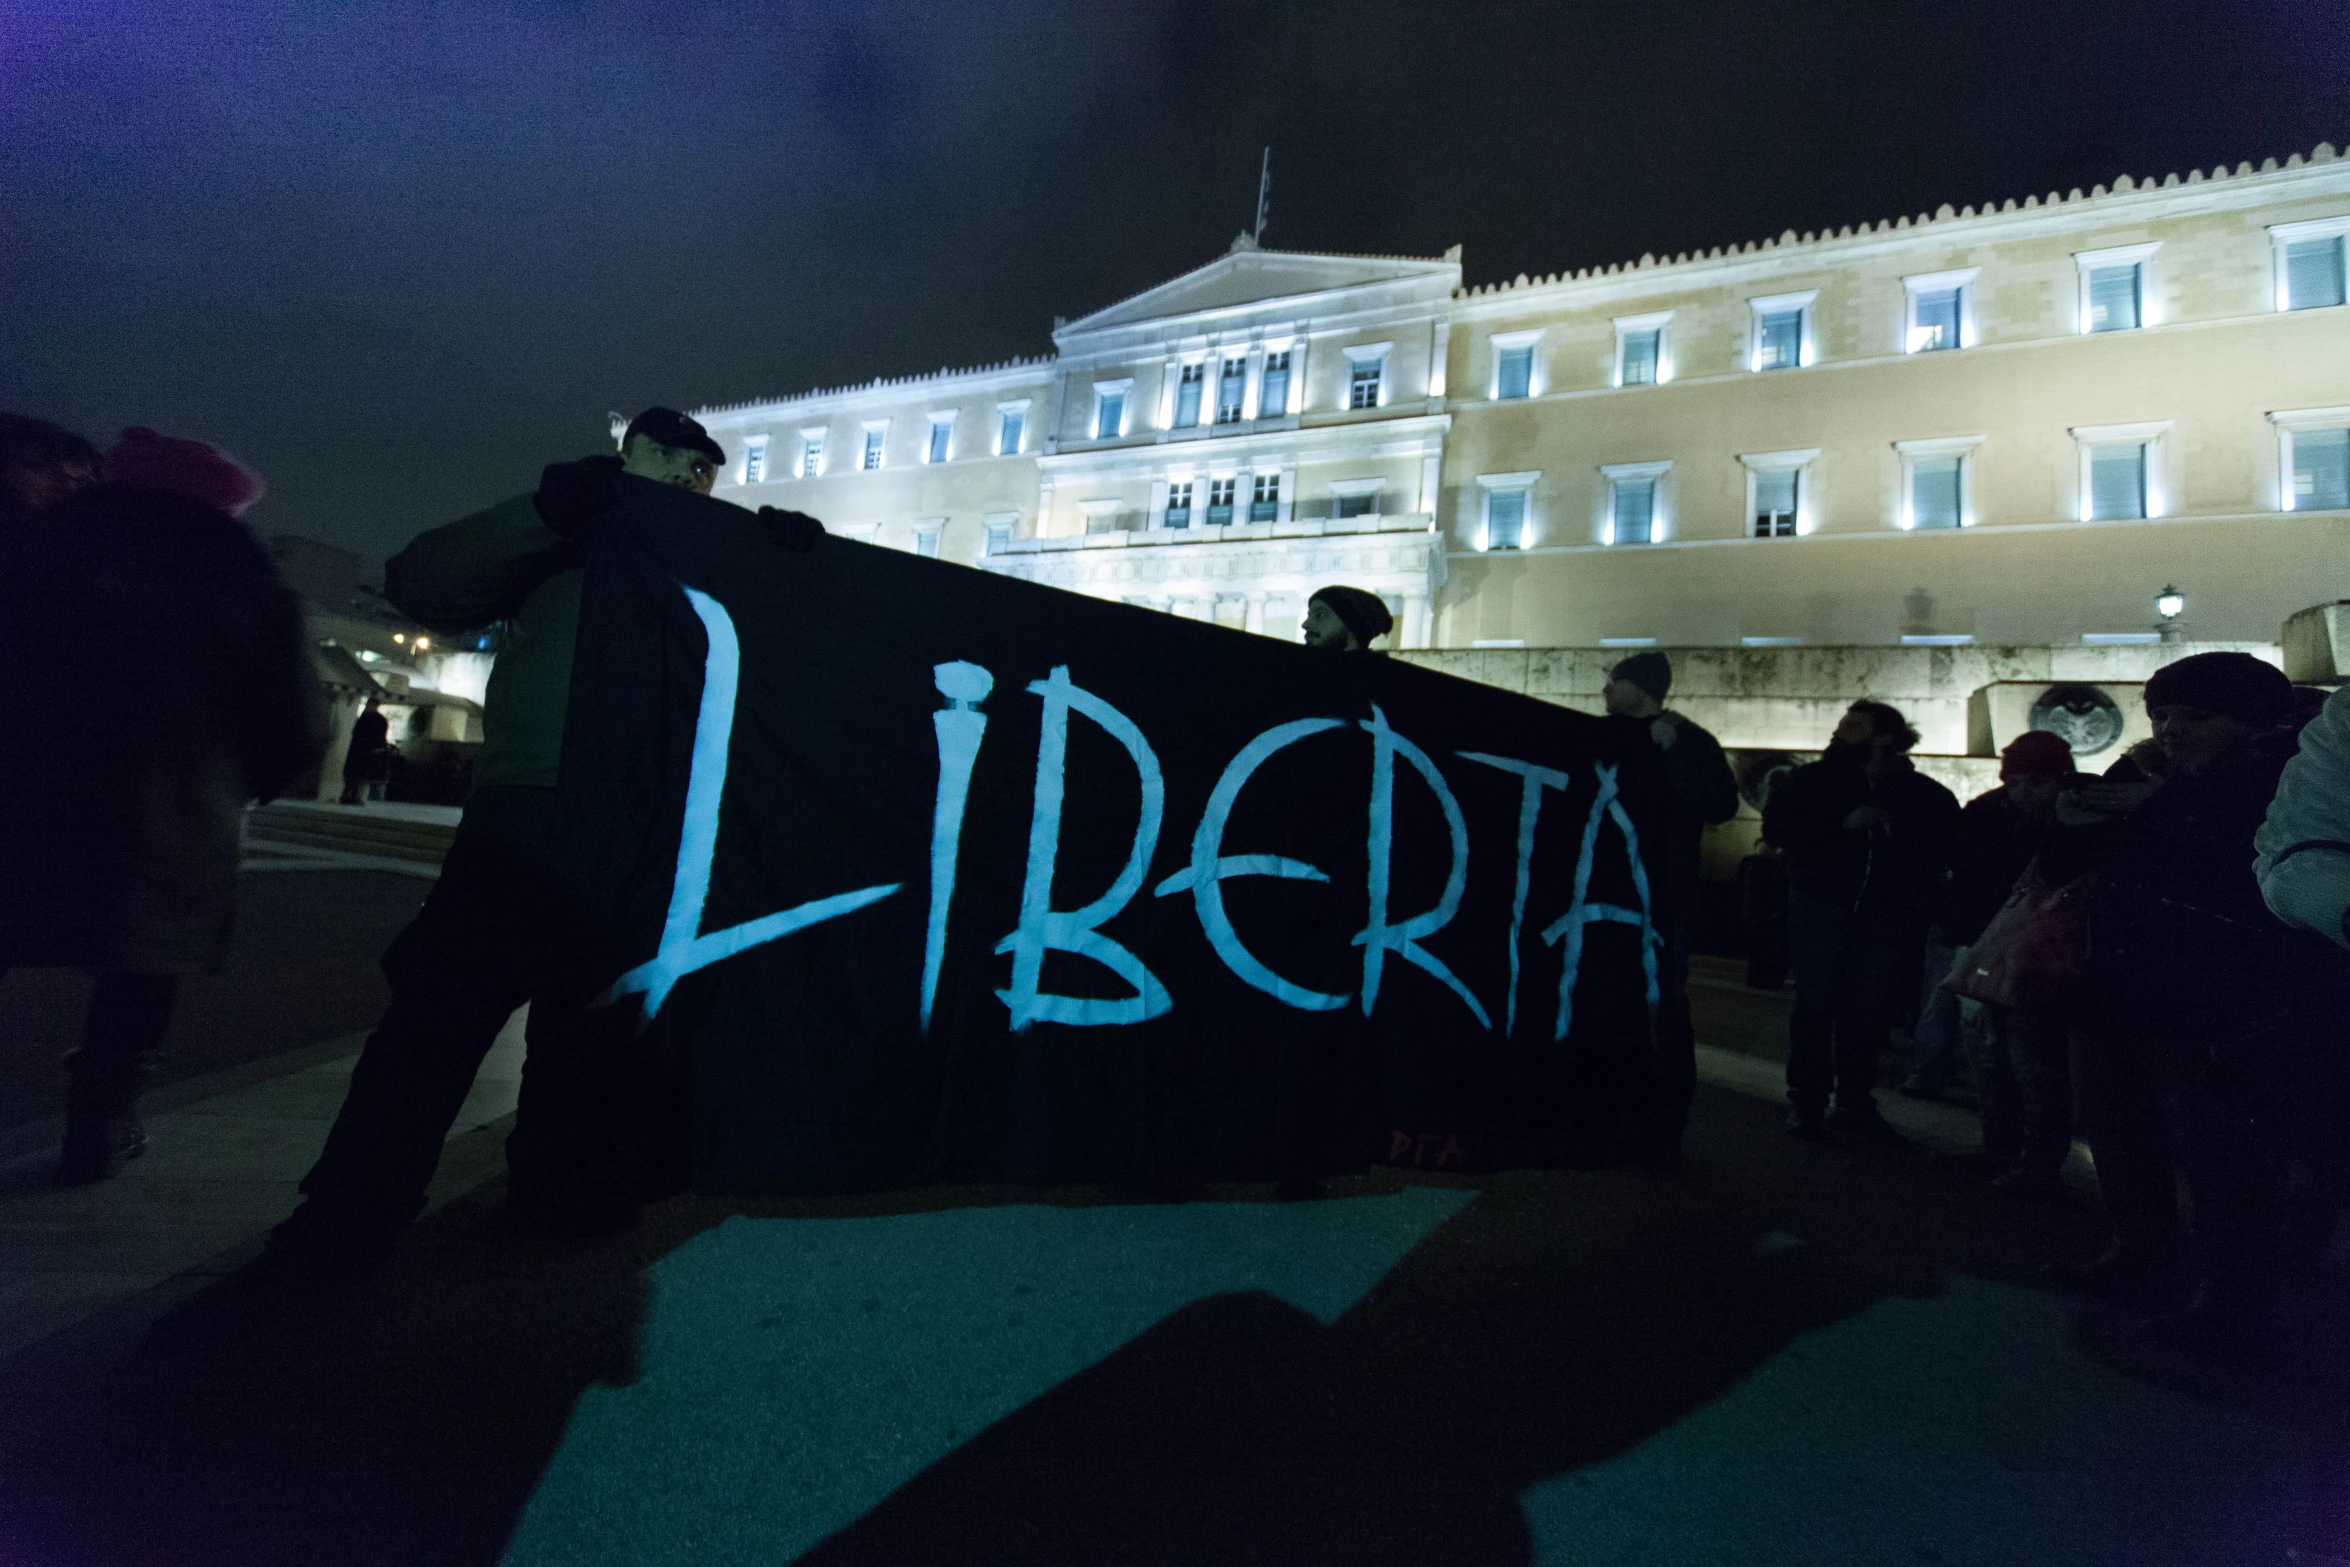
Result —
<path fill-rule="evenodd" d="M 2287 928 L 2261 900 L 2254 834 L 2291 756 L 2284 674 L 2249 653 L 2195 653 L 2146 681 L 2167 775 L 2131 766 L 2061 803 L 2056 876 L 2099 874 L 2089 996 L 2073 1031 L 2113 1245 L 2061 1271 L 2124 1304 L 2178 1285 L 2178 1198 L 2195 1205 L 2193 1287 L 2169 1318 L 2211 1341 L 2254 1327 L 2275 1285 L 2275 1191 L 2258 1121 L 2294 1027 Z"/>

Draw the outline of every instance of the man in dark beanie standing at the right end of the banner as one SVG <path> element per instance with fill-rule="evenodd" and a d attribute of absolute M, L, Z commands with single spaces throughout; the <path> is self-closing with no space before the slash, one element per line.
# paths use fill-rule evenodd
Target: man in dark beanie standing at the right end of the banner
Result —
<path fill-rule="evenodd" d="M 1664 968 L 1657 975 L 1657 1055 L 1671 1095 L 1678 1132 L 1697 1097 L 1697 1027 L 1690 1022 L 1690 947 L 1697 937 L 1699 846 L 1706 827 L 1739 813 L 1739 780 L 1723 745 L 1678 712 L 1664 709 L 1673 688 L 1673 660 L 1657 651 L 1633 653 L 1607 672 L 1600 698 L 1607 717 L 1636 719 L 1664 754 L 1664 780 L 1673 792 L 1664 846 Z M 1678 1146 L 1678 1144 L 1676 1144 Z M 1659 1149 L 1671 1158 L 1676 1149 Z"/>

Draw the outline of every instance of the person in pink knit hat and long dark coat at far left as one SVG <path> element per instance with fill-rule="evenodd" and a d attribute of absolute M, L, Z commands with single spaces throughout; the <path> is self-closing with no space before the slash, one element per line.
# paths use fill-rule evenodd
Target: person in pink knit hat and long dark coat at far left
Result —
<path fill-rule="evenodd" d="M 261 477 L 127 430 L 101 479 L 21 512 L 0 545 L 0 728 L 42 738 L 0 747 L 0 968 L 96 975 L 61 1184 L 146 1151 L 139 1092 L 179 980 L 228 959 L 244 803 L 324 742 L 301 608 L 237 522 Z"/>

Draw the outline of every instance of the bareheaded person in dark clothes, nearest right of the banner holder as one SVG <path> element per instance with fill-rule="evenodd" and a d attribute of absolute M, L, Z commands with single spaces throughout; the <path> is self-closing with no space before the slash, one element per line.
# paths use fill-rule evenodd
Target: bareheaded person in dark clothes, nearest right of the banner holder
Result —
<path fill-rule="evenodd" d="M 1854 702 L 1762 808 L 1762 839 L 1788 860 L 1786 1130 L 1812 1142 L 1908 1146 L 1878 1111 L 1878 1055 L 1894 968 L 1915 954 L 1958 832 L 1958 799 L 1911 766 L 1913 745 L 1899 709 Z"/>

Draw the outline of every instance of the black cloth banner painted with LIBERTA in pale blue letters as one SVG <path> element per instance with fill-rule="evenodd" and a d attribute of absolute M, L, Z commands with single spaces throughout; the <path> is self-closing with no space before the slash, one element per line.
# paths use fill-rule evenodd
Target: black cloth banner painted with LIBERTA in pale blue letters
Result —
<path fill-rule="evenodd" d="M 627 484 L 564 803 L 696 1182 L 1612 1163 L 1650 1055 L 1638 724 Z"/>

